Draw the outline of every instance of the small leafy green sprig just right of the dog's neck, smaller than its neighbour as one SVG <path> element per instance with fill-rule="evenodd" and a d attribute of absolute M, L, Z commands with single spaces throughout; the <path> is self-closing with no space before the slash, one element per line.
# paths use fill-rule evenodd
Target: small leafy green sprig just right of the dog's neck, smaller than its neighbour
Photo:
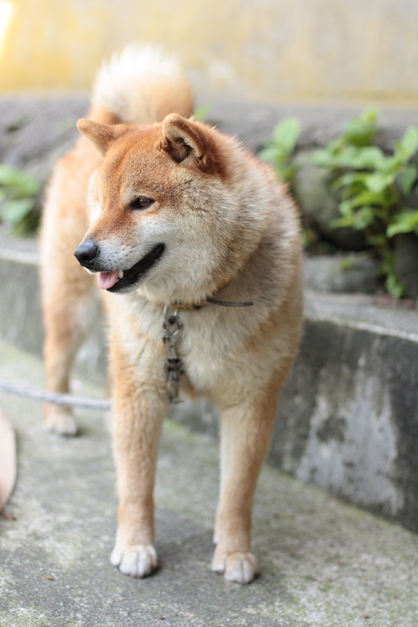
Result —
<path fill-rule="evenodd" d="M 295 173 L 293 154 L 300 134 L 297 118 L 284 118 L 274 127 L 272 138 L 265 141 L 258 157 L 274 165 L 282 180 L 291 180 Z"/>

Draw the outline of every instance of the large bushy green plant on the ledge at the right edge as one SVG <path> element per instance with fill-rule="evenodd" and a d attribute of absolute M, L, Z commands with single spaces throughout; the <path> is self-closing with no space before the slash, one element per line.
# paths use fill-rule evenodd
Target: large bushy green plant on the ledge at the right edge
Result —
<path fill-rule="evenodd" d="M 396 276 L 394 242 L 398 233 L 418 234 L 418 212 L 408 208 L 408 197 L 418 180 L 412 163 L 418 151 L 418 129 L 409 127 L 387 155 L 373 145 L 378 112 L 368 109 L 346 126 L 341 137 L 313 155 L 316 165 L 327 168 L 339 193 L 341 217 L 334 226 L 362 231 L 382 260 L 386 287 L 394 297 L 403 295 Z"/>

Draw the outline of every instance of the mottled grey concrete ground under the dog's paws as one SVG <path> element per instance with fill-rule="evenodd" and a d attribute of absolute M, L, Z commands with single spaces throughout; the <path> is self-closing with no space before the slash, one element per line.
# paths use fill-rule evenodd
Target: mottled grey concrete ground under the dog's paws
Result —
<path fill-rule="evenodd" d="M 0 378 L 44 383 L 40 360 L 4 343 Z M 108 419 L 78 412 L 82 435 L 60 439 L 43 430 L 40 403 L 1 393 L 0 407 L 18 444 L 17 486 L 0 516 L 2 627 L 418 624 L 418 536 L 268 466 L 254 507 L 261 577 L 240 587 L 212 573 L 217 445 L 170 419 L 156 488 L 160 571 L 121 575 L 109 564 Z"/>

